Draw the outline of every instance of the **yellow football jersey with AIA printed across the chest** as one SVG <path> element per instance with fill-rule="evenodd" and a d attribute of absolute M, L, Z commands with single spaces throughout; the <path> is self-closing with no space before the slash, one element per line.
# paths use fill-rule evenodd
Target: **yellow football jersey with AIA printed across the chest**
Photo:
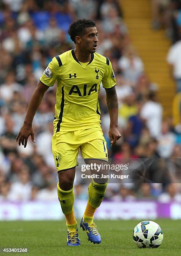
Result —
<path fill-rule="evenodd" d="M 102 81 L 108 89 L 116 85 L 111 62 L 91 54 L 88 63 L 79 62 L 74 50 L 55 56 L 40 81 L 53 86 L 57 80 L 54 132 L 100 127 L 98 92 Z"/>

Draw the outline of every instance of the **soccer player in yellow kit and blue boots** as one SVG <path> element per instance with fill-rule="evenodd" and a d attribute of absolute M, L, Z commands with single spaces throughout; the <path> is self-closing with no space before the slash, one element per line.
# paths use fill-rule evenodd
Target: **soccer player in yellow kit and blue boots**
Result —
<path fill-rule="evenodd" d="M 58 171 L 58 200 L 66 218 L 68 246 L 79 246 L 77 222 L 73 212 L 73 181 L 78 151 L 86 159 L 106 159 L 108 152 L 100 121 L 98 91 L 102 82 L 110 115 L 111 145 L 121 137 L 118 131 L 118 100 L 116 79 L 108 58 L 97 54 L 98 32 L 92 20 L 77 20 L 68 30 L 75 49 L 55 56 L 45 69 L 28 105 L 24 124 L 16 141 L 24 147 L 28 137 L 33 142 L 33 118 L 44 93 L 57 81 L 52 151 Z M 93 215 L 101 205 L 107 182 L 95 182 L 88 187 L 88 202 L 80 221 L 88 240 L 101 243 Z"/>

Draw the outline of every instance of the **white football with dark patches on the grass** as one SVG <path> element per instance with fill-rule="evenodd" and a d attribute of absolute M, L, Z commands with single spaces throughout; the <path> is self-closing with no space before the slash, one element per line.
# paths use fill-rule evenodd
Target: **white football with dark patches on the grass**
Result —
<path fill-rule="evenodd" d="M 158 248 L 163 241 L 163 231 L 156 222 L 144 220 L 134 228 L 133 241 L 139 248 Z"/>

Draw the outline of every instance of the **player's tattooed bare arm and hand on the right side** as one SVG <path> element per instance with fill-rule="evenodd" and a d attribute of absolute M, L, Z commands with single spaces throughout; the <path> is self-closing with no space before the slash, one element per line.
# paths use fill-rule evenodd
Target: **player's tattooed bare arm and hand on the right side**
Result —
<path fill-rule="evenodd" d="M 118 131 L 118 97 L 115 87 L 106 89 L 106 102 L 110 116 L 109 138 L 111 146 L 121 137 Z"/>

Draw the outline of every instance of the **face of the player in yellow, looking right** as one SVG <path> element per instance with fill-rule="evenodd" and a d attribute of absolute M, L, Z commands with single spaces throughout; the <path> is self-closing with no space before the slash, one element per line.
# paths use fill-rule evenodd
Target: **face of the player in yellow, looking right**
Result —
<path fill-rule="evenodd" d="M 80 37 L 80 47 L 89 53 L 96 52 L 98 45 L 98 31 L 96 27 L 86 28 L 83 36 Z"/>

